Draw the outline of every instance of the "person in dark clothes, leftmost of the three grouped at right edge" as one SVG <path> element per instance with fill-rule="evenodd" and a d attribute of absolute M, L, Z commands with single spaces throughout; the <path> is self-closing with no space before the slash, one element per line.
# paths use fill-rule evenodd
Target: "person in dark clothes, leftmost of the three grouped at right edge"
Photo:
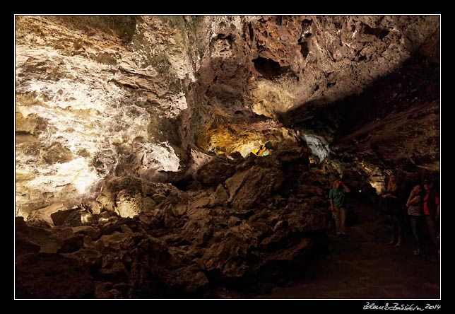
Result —
<path fill-rule="evenodd" d="M 400 247 L 403 245 L 403 211 L 401 210 L 396 175 L 390 176 L 387 190 L 383 197 L 385 201 L 384 211 L 392 229 L 392 239 L 389 245 Z"/>

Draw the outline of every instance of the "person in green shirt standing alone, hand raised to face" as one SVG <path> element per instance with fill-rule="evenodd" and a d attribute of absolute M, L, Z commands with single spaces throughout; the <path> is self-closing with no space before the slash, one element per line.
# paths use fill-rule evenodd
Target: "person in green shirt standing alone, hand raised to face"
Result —
<path fill-rule="evenodd" d="M 336 179 L 333 182 L 333 188 L 330 190 L 330 208 L 335 216 L 335 228 L 337 236 L 345 236 L 345 220 L 346 220 L 346 208 L 345 208 L 345 194 L 350 192 L 341 179 Z"/>

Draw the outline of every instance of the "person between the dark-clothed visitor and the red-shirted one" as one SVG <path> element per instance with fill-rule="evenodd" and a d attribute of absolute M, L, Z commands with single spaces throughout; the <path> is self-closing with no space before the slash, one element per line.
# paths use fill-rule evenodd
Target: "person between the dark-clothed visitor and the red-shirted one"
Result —
<path fill-rule="evenodd" d="M 422 226 L 423 226 L 423 197 L 422 187 L 415 185 L 413 190 L 410 191 L 406 207 L 408 207 L 408 215 L 410 225 L 413 229 L 413 235 L 417 240 L 417 249 L 414 250 L 414 255 L 423 255 L 423 239 L 422 239 Z"/>

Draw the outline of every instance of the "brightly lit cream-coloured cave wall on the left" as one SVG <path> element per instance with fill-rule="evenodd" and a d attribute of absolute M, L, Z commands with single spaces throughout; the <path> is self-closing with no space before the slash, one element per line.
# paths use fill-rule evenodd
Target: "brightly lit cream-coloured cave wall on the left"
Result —
<path fill-rule="evenodd" d="M 16 212 L 180 166 L 191 18 L 16 17 Z M 189 28 L 189 30 L 187 30 Z"/>

